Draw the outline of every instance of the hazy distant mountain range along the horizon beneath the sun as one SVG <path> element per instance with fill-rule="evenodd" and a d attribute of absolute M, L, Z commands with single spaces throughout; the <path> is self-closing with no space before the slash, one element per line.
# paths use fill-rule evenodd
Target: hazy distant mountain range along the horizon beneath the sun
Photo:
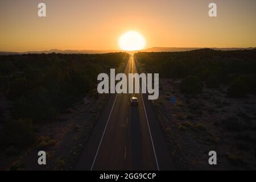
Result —
<path fill-rule="evenodd" d="M 181 51 L 193 51 L 196 49 L 202 49 L 203 47 L 152 47 L 140 50 L 139 52 L 181 52 Z M 221 51 L 235 51 L 235 50 L 244 50 L 244 49 L 255 49 L 255 47 L 248 48 L 211 48 L 214 50 Z M 61 49 L 51 49 L 46 51 L 28 51 L 28 52 L 7 52 L 0 51 L 0 55 L 20 55 L 20 54 L 28 54 L 28 53 L 86 53 L 86 54 L 94 54 L 94 53 L 110 53 L 110 52 L 138 52 L 138 51 L 121 51 L 121 50 L 61 50 Z"/>

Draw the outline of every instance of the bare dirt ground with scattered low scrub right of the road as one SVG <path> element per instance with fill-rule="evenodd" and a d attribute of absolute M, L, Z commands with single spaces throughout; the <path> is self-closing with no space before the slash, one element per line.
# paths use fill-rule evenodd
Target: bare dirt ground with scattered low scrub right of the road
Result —
<path fill-rule="evenodd" d="M 224 87 L 188 96 L 180 93 L 180 82 L 160 79 L 159 99 L 153 101 L 176 168 L 255 169 L 256 97 L 229 98 Z M 217 165 L 210 166 L 212 150 Z"/>

